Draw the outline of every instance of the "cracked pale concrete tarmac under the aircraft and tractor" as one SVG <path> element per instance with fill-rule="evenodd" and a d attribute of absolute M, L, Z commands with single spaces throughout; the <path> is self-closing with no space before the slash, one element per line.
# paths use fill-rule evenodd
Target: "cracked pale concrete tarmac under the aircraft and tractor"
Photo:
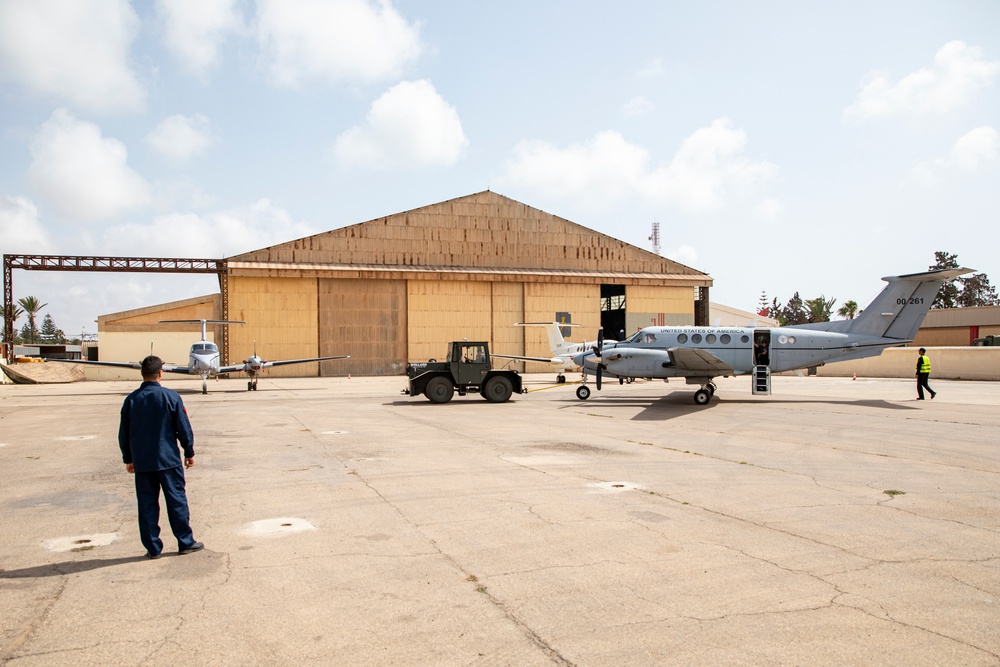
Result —
<path fill-rule="evenodd" d="M 1000 663 L 1000 384 L 773 383 L 167 380 L 206 549 L 156 561 L 137 383 L 0 386 L 0 663 Z"/>

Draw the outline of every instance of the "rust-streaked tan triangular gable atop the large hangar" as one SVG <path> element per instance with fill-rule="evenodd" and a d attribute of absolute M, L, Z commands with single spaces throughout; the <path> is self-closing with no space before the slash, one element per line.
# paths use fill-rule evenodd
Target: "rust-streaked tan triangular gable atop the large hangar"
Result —
<path fill-rule="evenodd" d="M 229 258 L 241 265 L 588 271 L 701 284 L 691 267 L 489 190 Z"/>

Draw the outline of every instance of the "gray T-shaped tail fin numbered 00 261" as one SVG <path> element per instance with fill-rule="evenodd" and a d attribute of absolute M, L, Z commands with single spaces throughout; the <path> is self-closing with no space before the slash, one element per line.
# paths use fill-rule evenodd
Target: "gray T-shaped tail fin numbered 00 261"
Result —
<path fill-rule="evenodd" d="M 912 340 L 941 285 L 966 273 L 972 273 L 972 269 L 943 269 L 882 278 L 889 284 L 861 315 L 853 320 L 824 323 L 830 326 L 810 328 Z"/>

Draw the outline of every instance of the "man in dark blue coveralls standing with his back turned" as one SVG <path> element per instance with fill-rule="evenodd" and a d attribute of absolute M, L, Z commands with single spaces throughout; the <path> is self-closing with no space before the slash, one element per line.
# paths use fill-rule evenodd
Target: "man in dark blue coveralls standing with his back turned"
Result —
<path fill-rule="evenodd" d="M 194 465 L 194 433 L 180 395 L 160 386 L 163 360 L 150 355 L 142 360 L 141 366 L 142 385 L 125 399 L 118 427 L 118 445 L 125 469 L 135 475 L 139 538 L 146 547 L 147 558 L 160 557 L 162 488 L 179 553 L 189 554 L 205 548 L 191 532 L 184 493 L 184 468 Z M 178 441 L 184 448 L 183 467 Z"/>

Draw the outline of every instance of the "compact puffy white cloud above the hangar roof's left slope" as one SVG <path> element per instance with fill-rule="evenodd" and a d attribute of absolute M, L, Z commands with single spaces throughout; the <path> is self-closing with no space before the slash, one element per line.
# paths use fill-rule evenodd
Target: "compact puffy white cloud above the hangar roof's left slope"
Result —
<path fill-rule="evenodd" d="M 342 166 L 450 165 L 468 143 L 455 107 L 429 81 L 404 81 L 372 102 L 364 124 L 337 137 L 333 157 Z"/>

